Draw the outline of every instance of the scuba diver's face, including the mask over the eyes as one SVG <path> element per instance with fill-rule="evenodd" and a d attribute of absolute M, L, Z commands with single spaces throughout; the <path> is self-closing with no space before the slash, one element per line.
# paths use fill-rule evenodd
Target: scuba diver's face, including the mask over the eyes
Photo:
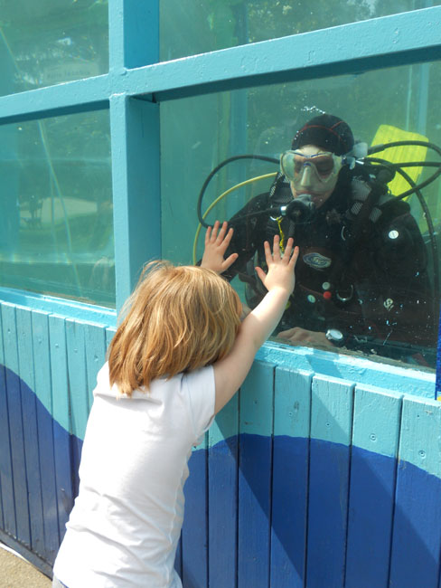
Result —
<path fill-rule="evenodd" d="M 294 198 L 301 194 L 310 194 L 315 208 L 320 208 L 333 194 L 337 184 L 338 172 L 332 165 L 332 158 L 321 157 L 324 149 L 314 145 L 305 145 L 296 149 L 296 180 L 291 180 L 291 192 Z M 302 156 L 305 156 L 303 158 Z"/>

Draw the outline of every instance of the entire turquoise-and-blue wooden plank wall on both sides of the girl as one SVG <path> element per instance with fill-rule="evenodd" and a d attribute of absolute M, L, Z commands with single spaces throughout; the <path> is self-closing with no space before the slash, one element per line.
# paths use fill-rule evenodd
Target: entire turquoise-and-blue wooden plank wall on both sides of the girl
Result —
<path fill-rule="evenodd" d="M 112 334 L 0 305 L 0 539 L 46 573 Z M 440 403 L 256 362 L 192 454 L 184 588 L 441 588 L 440 458 Z"/>

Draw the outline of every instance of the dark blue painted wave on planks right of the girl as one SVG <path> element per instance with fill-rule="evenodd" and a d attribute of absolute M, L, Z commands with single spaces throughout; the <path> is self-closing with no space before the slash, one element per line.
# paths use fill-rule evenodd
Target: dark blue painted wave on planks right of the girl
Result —
<path fill-rule="evenodd" d="M 280 588 L 437 587 L 436 476 L 357 447 L 242 434 L 193 454 L 186 488 L 192 512 L 205 505 L 206 469 L 210 513 L 216 510 L 208 521 L 211 586 L 237 574 L 239 586 L 270 577 Z M 230 555 L 223 571 L 219 553 Z"/>

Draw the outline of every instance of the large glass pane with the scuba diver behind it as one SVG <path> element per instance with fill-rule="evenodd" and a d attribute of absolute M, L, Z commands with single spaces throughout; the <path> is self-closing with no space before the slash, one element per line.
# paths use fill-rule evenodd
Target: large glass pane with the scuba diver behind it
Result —
<path fill-rule="evenodd" d="M 163 104 L 164 257 L 183 263 L 201 258 L 203 230 L 194 257 L 192 254 L 198 228 L 198 195 L 215 166 L 242 154 L 273 158 L 273 163 L 239 159 L 222 166 L 202 195 L 202 213 L 219 198 L 206 217 L 208 222 L 229 220 L 239 214 L 233 223 L 239 261 L 231 273 L 239 271 L 232 284 L 243 302 L 253 307 L 260 297 L 253 268 L 264 239 L 278 233 L 286 240 L 293 234 L 301 247 L 301 261 L 295 298 L 278 331 L 302 327 L 320 337 L 296 331 L 291 343 L 296 343 L 296 337 L 307 336 L 305 343 L 315 341 L 316 346 L 336 348 L 338 341 L 330 343 L 324 337 L 333 328 L 342 333 L 342 348 L 348 353 L 433 367 L 441 184 L 432 176 L 441 172 L 437 115 L 440 82 L 441 63 L 436 62 Z M 298 174 L 308 169 L 314 176 L 315 187 L 310 185 L 305 190 L 312 194 L 313 205 L 304 202 L 302 210 L 296 212 L 302 199 L 296 201 L 292 204 L 294 211 L 289 209 L 290 217 L 282 217 L 279 225 L 280 206 L 294 201 L 290 185 L 283 183 L 277 184 L 276 193 L 268 197 L 279 169 L 279 154 L 291 149 L 297 129 L 323 112 L 342 117 L 355 139 L 367 146 L 390 141 L 399 145 L 371 155 L 386 160 L 381 174 L 382 168 L 372 167 L 373 159 L 369 164 L 363 157 L 367 146 L 362 143 L 357 144 L 360 161 L 354 167 L 352 159 L 331 156 L 326 160 L 331 168 L 324 173 L 317 160 L 311 162 L 304 156 Z M 429 141 L 430 145 L 418 146 L 416 140 Z M 319 147 L 337 151 L 327 143 Z M 388 170 L 392 170 L 391 175 L 396 170 L 389 181 L 391 194 L 387 194 L 385 184 L 390 179 L 384 176 Z M 410 179 L 402 179 L 400 170 Z M 302 190 L 294 172 L 292 175 L 298 196 Z M 248 185 L 226 193 L 251 178 Z M 331 187 L 326 188 L 329 178 Z M 413 191 L 399 197 L 415 182 L 427 185 L 420 194 Z M 316 194 L 326 190 L 329 200 L 321 208 Z M 249 204 L 258 194 L 263 195 Z M 368 194 L 368 204 L 362 207 Z M 245 205 L 249 210 L 244 211 Z M 270 213 L 259 213 L 269 208 Z M 304 216 L 305 208 L 311 208 L 314 214 Z M 332 335 L 335 333 L 328 334 Z"/>

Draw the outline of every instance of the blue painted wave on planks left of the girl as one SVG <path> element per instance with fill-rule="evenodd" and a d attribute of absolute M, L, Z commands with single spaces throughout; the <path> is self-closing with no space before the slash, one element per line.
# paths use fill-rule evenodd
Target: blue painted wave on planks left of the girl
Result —
<path fill-rule="evenodd" d="M 0 523 L 50 564 L 78 493 L 81 447 L 30 387 L 0 366 Z"/>

